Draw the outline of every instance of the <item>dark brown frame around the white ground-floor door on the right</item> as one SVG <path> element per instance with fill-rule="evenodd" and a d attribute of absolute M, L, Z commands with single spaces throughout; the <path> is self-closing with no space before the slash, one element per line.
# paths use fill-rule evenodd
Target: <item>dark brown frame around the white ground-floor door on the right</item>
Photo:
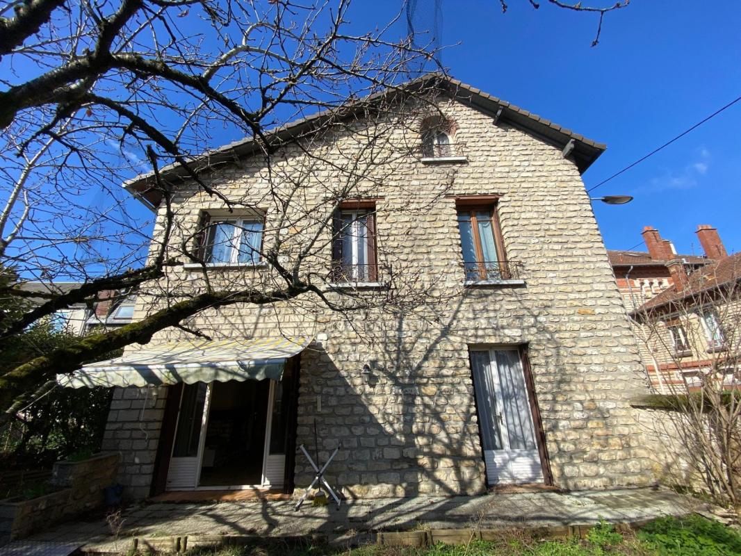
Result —
<path fill-rule="evenodd" d="M 551 471 L 551 461 L 548 457 L 548 448 L 545 443 L 545 430 L 542 426 L 542 418 L 540 416 L 540 408 L 538 406 L 538 400 L 535 392 L 535 385 L 533 375 L 530 366 L 530 359 L 528 357 L 528 344 L 470 344 L 468 345 L 468 367 L 471 369 L 471 383 L 473 384 L 473 361 L 471 360 L 471 351 L 488 351 L 490 354 L 491 364 L 491 352 L 496 350 L 508 350 L 517 351 L 520 366 L 522 368 L 522 374 L 524 375 L 525 381 L 525 394 L 528 397 L 528 405 L 530 407 L 531 420 L 534 428 L 534 437 L 536 440 L 536 447 L 538 450 L 540 466 L 543 475 L 543 484 L 546 486 L 553 485 L 553 473 Z M 499 377 L 496 377 L 497 384 L 499 383 Z M 497 398 L 497 406 L 499 406 L 499 398 Z M 486 465 L 486 455 L 484 451 L 484 443 L 481 431 L 481 421 L 479 420 L 479 400 L 476 399 L 476 393 L 474 388 L 473 393 L 473 407 L 476 410 L 476 419 L 479 421 L 479 446 L 481 447 L 481 458 L 484 460 Z M 499 408 L 496 408 L 499 411 Z M 502 441 L 504 440 L 502 435 Z M 511 450 L 510 450 L 511 451 Z M 494 486 L 489 483 L 488 472 L 484 471 L 484 479 L 488 487 Z"/>

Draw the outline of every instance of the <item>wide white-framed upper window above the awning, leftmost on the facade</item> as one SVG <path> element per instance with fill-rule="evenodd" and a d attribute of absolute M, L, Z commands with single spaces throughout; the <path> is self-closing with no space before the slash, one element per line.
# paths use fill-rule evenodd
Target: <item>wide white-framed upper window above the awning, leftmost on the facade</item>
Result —
<path fill-rule="evenodd" d="M 256 265 L 260 262 L 265 225 L 255 217 L 209 217 L 203 250 L 212 265 Z"/>

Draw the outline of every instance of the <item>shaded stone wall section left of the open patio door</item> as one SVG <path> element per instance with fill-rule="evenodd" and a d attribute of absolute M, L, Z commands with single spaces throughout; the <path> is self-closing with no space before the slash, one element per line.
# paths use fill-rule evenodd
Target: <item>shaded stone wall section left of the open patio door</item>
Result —
<path fill-rule="evenodd" d="M 166 399 L 164 387 L 113 391 L 102 451 L 120 456 L 116 481 L 125 486 L 124 498 L 149 496 Z"/>

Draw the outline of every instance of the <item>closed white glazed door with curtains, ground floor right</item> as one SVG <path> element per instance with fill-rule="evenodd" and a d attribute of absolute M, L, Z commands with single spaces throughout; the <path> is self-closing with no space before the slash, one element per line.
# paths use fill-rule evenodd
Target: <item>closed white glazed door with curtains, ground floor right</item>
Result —
<path fill-rule="evenodd" d="M 471 366 L 488 483 L 542 483 L 519 351 L 471 350 Z"/>

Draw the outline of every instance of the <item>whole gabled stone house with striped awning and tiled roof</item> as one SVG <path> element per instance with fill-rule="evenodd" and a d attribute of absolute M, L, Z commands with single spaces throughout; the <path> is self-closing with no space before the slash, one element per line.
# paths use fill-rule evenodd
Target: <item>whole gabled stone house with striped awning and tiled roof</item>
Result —
<path fill-rule="evenodd" d="M 168 329 L 60 379 L 116 386 L 104 450 L 129 496 L 292 492 L 315 431 L 348 497 L 651 480 L 639 353 L 581 177 L 604 145 L 439 75 L 272 137 L 270 156 L 246 139 L 193 162 L 202 185 L 162 169 L 183 264 L 134 316 L 273 291 L 299 262 L 316 295 L 207 309 L 185 323 L 207 339 Z M 154 252 L 162 193 L 127 188 L 157 214 Z"/>

